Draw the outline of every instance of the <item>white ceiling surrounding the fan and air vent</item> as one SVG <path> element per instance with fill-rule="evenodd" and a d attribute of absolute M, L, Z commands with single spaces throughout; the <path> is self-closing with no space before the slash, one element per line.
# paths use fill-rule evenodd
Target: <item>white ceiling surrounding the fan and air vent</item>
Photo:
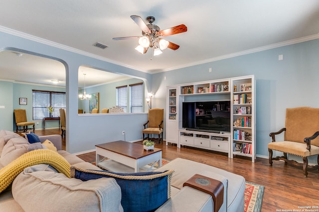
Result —
<path fill-rule="evenodd" d="M 145 55 L 135 50 L 137 39 L 112 40 L 113 37 L 141 35 L 141 29 L 130 18 L 131 15 L 139 15 L 144 19 L 152 15 L 160 29 L 185 24 L 187 32 L 165 37 L 180 45 L 180 48 L 176 51 L 166 49 L 163 54 L 152 57 L 150 50 Z M 319 1 L 1 0 L 0 30 L 8 31 L 7 28 L 115 64 L 154 73 L 319 38 Z M 94 47 L 95 42 L 105 44 L 108 48 L 102 50 Z M 2 79 L 9 77 L 6 72 L 18 73 L 11 76 L 13 78 L 23 74 L 15 72 L 21 71 L 16 60 L 23 56 L 18 57 L 13 53 L 11 56 L 0 54 Z M 2 57 L 9 57 L 12 62 Z M 50 70 L 47 67 L 50 63 L 40 64 L 41 60 L 29 59 L 29 63 L 38 63 L 34 65 L 37 68 L 26 70 L 24 66 L 22 71 L 32 74 L 33 71 L 42 73 Z M 38 75 L 45 78 L 44 75 Z M 65 80 L 65 73 L 57 77 Z"/>

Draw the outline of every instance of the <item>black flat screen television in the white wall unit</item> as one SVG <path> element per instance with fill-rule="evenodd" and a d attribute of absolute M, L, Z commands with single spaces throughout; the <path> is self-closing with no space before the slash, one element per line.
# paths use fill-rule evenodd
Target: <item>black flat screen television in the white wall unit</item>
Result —
<path fill-rule="evenodd" d="M 211 133 L 230 132 L 230 101 L 183 102 L 182 127 Z"/>

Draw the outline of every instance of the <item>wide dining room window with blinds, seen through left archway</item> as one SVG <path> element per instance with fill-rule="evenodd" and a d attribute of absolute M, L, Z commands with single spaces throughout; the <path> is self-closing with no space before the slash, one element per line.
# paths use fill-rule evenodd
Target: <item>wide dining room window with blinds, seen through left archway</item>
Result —
<path fill-rule="evenodd" d="M 60 108 L 66 108 L 65 92 L 32 90 L 32 116 L 33 120 L 42 120 L 49 117 L 47 107 L 53 107 L 53 117 L 60 116 Z"/>

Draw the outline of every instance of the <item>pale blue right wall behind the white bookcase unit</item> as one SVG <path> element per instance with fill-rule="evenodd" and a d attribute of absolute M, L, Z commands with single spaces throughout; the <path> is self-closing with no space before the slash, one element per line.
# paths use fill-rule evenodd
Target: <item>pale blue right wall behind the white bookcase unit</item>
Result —
<path fill-rule="evenodd" d="M 284 60 L 279 61 L 278 56 Z M 319 40 L 206 63 L 153 75 L 157 107 L 165 107 L 166 86 L 255 75 L 257 155 L 268 157 L 270 132 L 285 124 L 286 108 L 319 107 Z M 212 68 L 212 72 L 208 69 Z M 166 80 L 164 80 L 166 76 Z M 302 124 L 302 123 L 301 123 Z M 278 139 L 281 137 L 279 136 Z M 299 158 L 300 160 L 300 158 Z M 315 163 L 317 159 L 312 158 Z"/>

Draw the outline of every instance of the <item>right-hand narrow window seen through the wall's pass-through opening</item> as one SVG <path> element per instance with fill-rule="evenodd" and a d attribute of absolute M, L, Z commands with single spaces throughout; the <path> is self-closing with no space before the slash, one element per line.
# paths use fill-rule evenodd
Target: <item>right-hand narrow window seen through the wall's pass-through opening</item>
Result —
<path fill-rule="evenodd" d="M 143 112 L 143 83 L 130 84 L 130 112 Z"/>

